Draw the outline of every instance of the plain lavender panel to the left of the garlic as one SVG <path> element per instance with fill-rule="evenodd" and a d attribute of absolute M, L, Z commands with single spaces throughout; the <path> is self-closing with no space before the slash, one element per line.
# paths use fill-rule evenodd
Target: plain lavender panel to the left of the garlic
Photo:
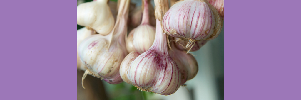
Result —
<path fill-rule="evenodd" d="M 76 99 L 75 5 L 1 1 L 1 100 Z"/>

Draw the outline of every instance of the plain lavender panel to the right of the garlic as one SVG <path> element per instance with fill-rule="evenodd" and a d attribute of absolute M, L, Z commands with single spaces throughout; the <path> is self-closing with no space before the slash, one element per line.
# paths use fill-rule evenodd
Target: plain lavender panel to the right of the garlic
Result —
<path fill-rule="evenodd" d="M 225 100 L 300 99 L 300 1 L 225 1 Z"/>

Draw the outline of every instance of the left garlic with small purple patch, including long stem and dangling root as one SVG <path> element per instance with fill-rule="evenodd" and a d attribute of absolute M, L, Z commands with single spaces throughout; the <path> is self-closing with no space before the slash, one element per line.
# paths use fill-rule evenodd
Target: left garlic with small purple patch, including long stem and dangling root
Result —
<path fill-rule="evenodd" d="M 110 34 L 92 35 L 80 44 L 79 57 L 88 68 L 82 81 L 87 74 L 104 79 L 110 84 L 123 81 L 119 74 L 119 67 L 128 54 L 125 47 L 128 11 L 129 0 L 121 0 L 117 20 Z"/>

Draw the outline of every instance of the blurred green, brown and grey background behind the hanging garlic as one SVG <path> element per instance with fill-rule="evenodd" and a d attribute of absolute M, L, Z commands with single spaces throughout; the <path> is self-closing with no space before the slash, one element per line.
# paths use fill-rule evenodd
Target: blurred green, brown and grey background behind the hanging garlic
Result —
<path fill-rule="evenodd" d="M 77 5 L 92 0 L 77 0 Z M 114 4 L 117 0 L 110 0 Z M 133 5 L 141 6 L 141 0 L 131 0 Z M 154 0 L 151 0 L 154 7 Z M 77 29 L 82 26 L 77 25 Z M 131 31 L 129 29 L 128 31 Z M 222 32 L 208 41 L 200 50 L 191 52 L 197 59 L 199 71 L 197 76 L 188 80 L 187 86 L 180 88 L 172 95 L 159 95 L 141 92 L 125 82 L 112 85 L 99 78 L 88 75 L 82 88 L 84 71 L 77 70 L 78 100 L 223 100 L 224 99 L 224 23 Z"/>

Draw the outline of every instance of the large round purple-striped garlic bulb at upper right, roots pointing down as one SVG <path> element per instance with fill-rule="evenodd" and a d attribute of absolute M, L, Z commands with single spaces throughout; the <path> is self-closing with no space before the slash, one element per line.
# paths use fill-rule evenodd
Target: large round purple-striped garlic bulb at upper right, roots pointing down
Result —
<path fill-rule="evenodd" d="M 206 0 L 177 2 L 166 12 L 162 24 L 164 31 L 169 32 L 170 36 L 192 43 L 212 40 L 222 31 L 219 13 Z"/>

